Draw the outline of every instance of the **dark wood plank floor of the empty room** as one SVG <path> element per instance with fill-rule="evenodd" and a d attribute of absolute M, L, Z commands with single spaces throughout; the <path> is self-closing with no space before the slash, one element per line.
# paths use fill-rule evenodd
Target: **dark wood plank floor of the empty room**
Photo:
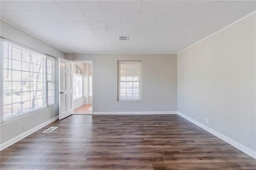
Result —
<path fill-rule="evenodd" d="M 51 133 L 42 133 L 58 126 Z M 1 170 L 256 169 L 256 160 L 178 115 L 72 115 L 2 150 Z"/>

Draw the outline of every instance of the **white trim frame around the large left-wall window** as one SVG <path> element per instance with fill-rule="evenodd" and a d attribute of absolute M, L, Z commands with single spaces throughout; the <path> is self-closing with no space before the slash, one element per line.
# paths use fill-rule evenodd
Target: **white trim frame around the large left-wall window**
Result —
<path fill-rule="evenodd" d="M 44 75 L 43 75 L 43 79 L 45 79 L 45 84 L 43 84 L 43 90 L 45 91 L 44 93 L 44 96 L 45 96 L 45 99 L 43 99 L 43 100 L 45 100 L 44 101 L 44 103 L 45 103 L 45 106 L 44 107 L 40 107 L 40 108 L 38 108 L 38 109 L 34 109 L 34 110 L 32 110 L 32 111 L 28 111 L 28 112 L 25 112 L 25 113 L 22 113 L 22 114 L 20 114 L 20 115 L 15 115 L 15 116 L 12 116 L 12 117 L 9 117 L 9 118 L 7 118 L 7 119 L 4 119 L 4 86 L 2 85 L 2 83 L 4 83 L 4 71 L 3 71 L 3 69 L 4 69 L 4 65 L 3 65 L 3 61 L 4 61 L 4 42 L 7 42 L 7 43 L 11 43 L 11 44 L 13 44 L 13 45 L 17 45 L 17 46 L 19 46 L 19 47 L 21 47 L 21 48 L 24 48 L 24 49 L 28 49 L 28 50 L 30 50 L 30 51 L 33 51 L 33 52 L 35 52 L 35 53 L 39 53 L 39 54 L 41 54 L 41 55 L 44 55 L 44 67 L 43 67 L 43 69 L 45 69 L 45 71 L 44 71 Z M 48 105 L 48 85 L 47 85 L 47 58 L 50 58 L 50 59 L 53 59 L 53 60 L 56 60 L 56 57 L 53 57 L 53 56 L 51 56 L 51 55 L 48 55 L 48 54 L 46 54 L 46 53 L 42 53 L 41 51 L 38 51 L 38 50 L 36 50 L 36 49 L 33 49 L 33 48 L 30 48 L 30 47 L 27 47 L 27 46 L 25 46 L 25 45 L 22 45 L 22 44 L 20 44 L 20 43 L 16 43 L 16 42 L 13 42 L 13 41 L 11 41 L 11 40 L 8 40 L 8 39 L 5 39 L 5 38 L 3 38 L 3 37 L 1 37 L 0 36 L 0 49 L 1 49 L 1 53 L 0 53 L 0 85 L 1 85 L 1 88 L 0 88 L 0 95 L 1 95 L 1 97 L 0 97 L 0 124 L 2 124 L 2 123 L 6 123 L 6 122 L 8 122 L 8 121 L 12 121 L 12 120 L 14 120 L 14 119 L 19 119 L 19 118 L 21 118 L 21 117 L 25 117 L 25 116 L 27 116 L 27 115 L 31 115 L 31 114 L 34 114 L 34 113 L 37 113 L 37 112 L 40 112 L 40 111 L 43 111 L 43 110 L 45 110 L 45 109 L 48 109 L 48 108 L 50 108 L 50 107 L 53 107 L 53 106 L 55 106 L 55 105 L 57 105 L 57 95 L 56 95 L 56 81 L 54 80 L 54 103 L 53 104 L 51 104 L 51 105 Z M 56 77 L 55 76 L 55 74 L 56 74 L 56 69 L 55 69 L 55 65 L 56 65 L 56 61 L 54 61 L 54 64 L 53 64 L 53 67 L 54 67 L 54 69 L 53 69 L 53 71 L 54 71 L 54 77 Z"/>

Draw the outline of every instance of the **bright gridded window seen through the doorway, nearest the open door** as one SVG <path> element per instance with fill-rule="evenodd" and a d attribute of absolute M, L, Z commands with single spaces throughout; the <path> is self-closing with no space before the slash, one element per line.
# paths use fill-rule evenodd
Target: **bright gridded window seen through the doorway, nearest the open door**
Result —
<path fill-rule="evenodd" d="M 74 73 L 74 100 L 83 96 L 83 75 Z"/>

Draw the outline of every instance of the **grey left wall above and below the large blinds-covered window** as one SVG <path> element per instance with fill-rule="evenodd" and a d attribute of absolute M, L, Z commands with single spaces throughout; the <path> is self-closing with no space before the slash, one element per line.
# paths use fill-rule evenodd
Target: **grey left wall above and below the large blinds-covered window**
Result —
<path fill-rule="evenodd" d="M 20 43 L 22 45 L 26 45 L 30 48 L 36 49 L 38 51 L 44 52 L 48 55 L 52 55 L 54 57 L 64 57 L 64 52 L 52 47 L 51 45 L 44 43 L 33 36 L 23 32 L 22 30 L 8 24 L 7 22 L 0 20 L 0 28 L 1 28 L 1 37 L 6 38 L 8 40 L 14 41 L 16 43 Z M 58 60 L 56 60 L 57 67 Z M 58 69 L 56 69 L 56 77 L 58 77 Z M 58 81 L 58 80 L 57 80 Z M 56 86 L 57 88 L 57 86 Z M 58 94 L 58 89 L 56 89 L 56 95 Z M 16 136 L 23 133 L 22 126 L 26 125 L 26 131 L 37 127 L 38 125 L 45 123 L 58 116 L 58 98 L 57 105 L 50 107 L 48 109 L 44 109 L 42 111 L 38 111 L 36 113 L 32 113 L 25 117 L 21 117 L 18 119 L 14 119 L 12 121 L 8 121 L 0 124 L 1 128 L 1 145 L 8 140 L 15 138 Z"/>

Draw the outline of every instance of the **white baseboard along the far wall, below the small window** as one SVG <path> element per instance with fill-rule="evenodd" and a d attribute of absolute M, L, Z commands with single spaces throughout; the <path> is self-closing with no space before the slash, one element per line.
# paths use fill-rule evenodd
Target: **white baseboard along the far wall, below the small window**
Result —
<path fill-rule="evenodd" d="M 176 111 L 164 112 L 93 112 L 93 115 L 164 115 L 164 114 L 177 114 Z"/>

